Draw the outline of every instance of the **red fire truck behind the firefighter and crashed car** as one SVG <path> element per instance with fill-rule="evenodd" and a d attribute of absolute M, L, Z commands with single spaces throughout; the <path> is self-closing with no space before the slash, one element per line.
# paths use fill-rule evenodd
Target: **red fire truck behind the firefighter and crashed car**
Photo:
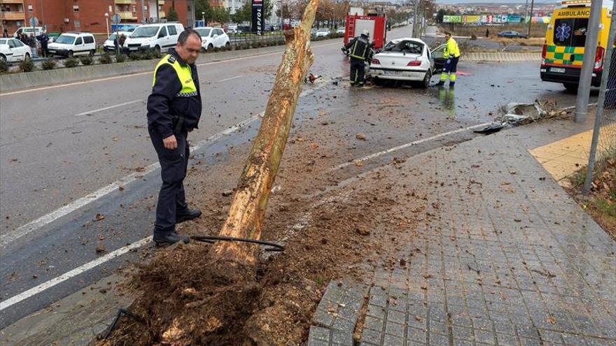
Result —
<path fill-rule="evenodd" d="M 370 41 L 374 42 L 374 49 L 382 48 L 386 43 L 387 18 L 384 14 L 368 13 L 367 15 L 353 13 L 346 15 L 344 26 L 344 45 L 359 36 L 363 29 L 370 33 Z"/>

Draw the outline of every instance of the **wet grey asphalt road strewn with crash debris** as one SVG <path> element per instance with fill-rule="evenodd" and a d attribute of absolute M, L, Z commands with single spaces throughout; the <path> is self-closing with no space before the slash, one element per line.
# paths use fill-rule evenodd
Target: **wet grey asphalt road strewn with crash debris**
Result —
<path fill-rule="evenodd" d="M 406 30 L 394 29 L 388 37 L 405 36 Z M 389 99 L 400 97 L 414 110 L 425 109 L 409 128 L 383 134 L 381 141 L 359 148 L 357 154 L 407 143 L 411 134 L 433 136 L 490 121 L 490 113 L 510 101 L 549 98 L 559 106 L 574 103 L 561 85 L 541 82 L 538 65 L 529 63 L 461 62 L 455 90 L 385 87 L 368 89 L 359 97 L 344 89 L 343 82 L 331 82 L 349 73 L 341 45 L 342 40 L 314 43 L 310 71 L 323 78 L 304 87 L 295 126 L 311 120 L 316 107 L 332 94 L 339 95 L 341 119 L 352 119 L 353 112 L 367 105 L 386 108 Z M 272 53 L 199 66 L 204 113 L 200 129 L 190 134 L 197 146 L 195 164 L 223 168 L 232 148 L 247 147 L 280 57 Z M 130 251 L 99 266 L 80 268 L 53 287 L 38 287 L 151 234 L 160 187 L 145 127 L 151 78 L 151 73 L 140 73 L 0 95 L 0 328 L 139 259 L 139 252 Z M 447 117 L 434 119 L 433 110 Z M 337 126 L 352 132 L 349 127 L 355 125 Z M 20 294 L 20 302 L 6 305 Z"/>

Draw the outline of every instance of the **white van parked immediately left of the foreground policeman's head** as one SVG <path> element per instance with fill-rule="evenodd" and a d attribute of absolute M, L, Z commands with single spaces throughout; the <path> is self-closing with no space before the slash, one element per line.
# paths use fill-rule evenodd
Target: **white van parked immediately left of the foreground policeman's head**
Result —
<path fill-rule="evenodd" d="M 154 50 L 167 52 L 175 47 L 184 26 L 180 23 L 144 24 L 132 31 L 124 42 L 125 52 Z"/>

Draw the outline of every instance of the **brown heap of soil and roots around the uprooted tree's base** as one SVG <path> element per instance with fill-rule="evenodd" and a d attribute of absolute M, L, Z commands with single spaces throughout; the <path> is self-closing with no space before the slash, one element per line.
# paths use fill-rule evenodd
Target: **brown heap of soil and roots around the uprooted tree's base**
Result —
<path fill-rule="evenodd" d="M 357 191 L 317 208 L 289 203 L 266 221 L 268 236 L 290 236 L 285 252 L 257 266 L 215 260 L 204 243 L 159 250 L 133 278 L 144 293 L 128 310 L 143 321 L 123 317 L 99 345 L 301 344 L 328 282 L 362 276 L 361 264 L 381 251 L 379 225 L 395 202 Z M 289 235 L 289 220 L 301 216 L 311 222 Z"/>

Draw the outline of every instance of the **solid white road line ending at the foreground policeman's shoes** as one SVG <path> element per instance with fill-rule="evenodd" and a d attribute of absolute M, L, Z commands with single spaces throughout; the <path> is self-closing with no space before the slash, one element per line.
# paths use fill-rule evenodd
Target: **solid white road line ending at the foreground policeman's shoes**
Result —
<path fill-rule="evenodd" d="M 147 236 L 146 238 L 143 238 L 141 240 L 139 240 L 137 243 L 132 243 L 131 245 L 127 245 L 125 247 L 120 247 L 118 250 L 109 252 L 109 254 L 106 254 L 102 257 L 99 257 L 97 259 L 94 259 L 94 261 L 90 261 L 87 262 L 86 264 L 84 264 L 83 266 L 79 266 L 75 269 L 73 269 L 72 271 L 66 272 L 58 277 L 54 277 L 53 279 L 47 281 L 47 282 L 43 282 L 42 284 L 39 284 L 36 287 L 32 287 L 31 289 L 28 289 L 27 291 L 23 291 L 22 293 L 18 294 L 17 296 L 13 296 L 8 298 L 6 301 L 1 301 L 0 302 L 0 311 L 10 307 L 11 305 L 15 305 L 17 303 L 19 303 L 20 301 L 24 301 L 27 298 L 30 298 L 31 296 L 34 296 L 35 294 L 39 294 L 42 291 L 45 291 L 46 289 L 50 289 L 51 287 L 54 287 L 55 285 L 64 282 L 66 280 L 71 279 L 72 277 L 76 277 L 77 275 L 84 273 L 85 271 L 89 271 L 90 269 L 99 266 L 100 264 L 105 263 L 106 261 L 111 261 L 111 259 L 115 259 L 116 257 L 120 257 L 123 254 L 129 252 L 130 250 L 133 249 L 137 249 L 139 247 L 142 247 L 148 243 L 150 243 L 152 240 L 151 236 Z"/>

